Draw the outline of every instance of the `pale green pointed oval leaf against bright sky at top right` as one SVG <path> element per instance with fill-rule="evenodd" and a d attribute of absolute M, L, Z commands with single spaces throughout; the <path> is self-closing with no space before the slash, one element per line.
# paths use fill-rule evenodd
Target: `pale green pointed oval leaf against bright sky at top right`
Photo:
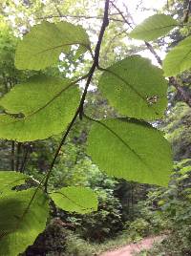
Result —
<path fill-rule="evenodd" d="M 151 41 L 158 39 L 178 26 L 178 22 L 170 15 L 155 14 L 145 19 L 129 36 L 139 40 Z"/>

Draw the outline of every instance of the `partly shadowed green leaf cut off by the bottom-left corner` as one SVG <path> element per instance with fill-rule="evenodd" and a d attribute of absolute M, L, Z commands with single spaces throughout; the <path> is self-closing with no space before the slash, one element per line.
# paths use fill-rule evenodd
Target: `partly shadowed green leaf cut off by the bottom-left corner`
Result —
<path fill-rule="evenodd" d="M 41 233 L 49 215 L 46 195 L 35 189 L 10 193 L 0 198 L 0 255 L 16 256 L 32 245 Z"/>

